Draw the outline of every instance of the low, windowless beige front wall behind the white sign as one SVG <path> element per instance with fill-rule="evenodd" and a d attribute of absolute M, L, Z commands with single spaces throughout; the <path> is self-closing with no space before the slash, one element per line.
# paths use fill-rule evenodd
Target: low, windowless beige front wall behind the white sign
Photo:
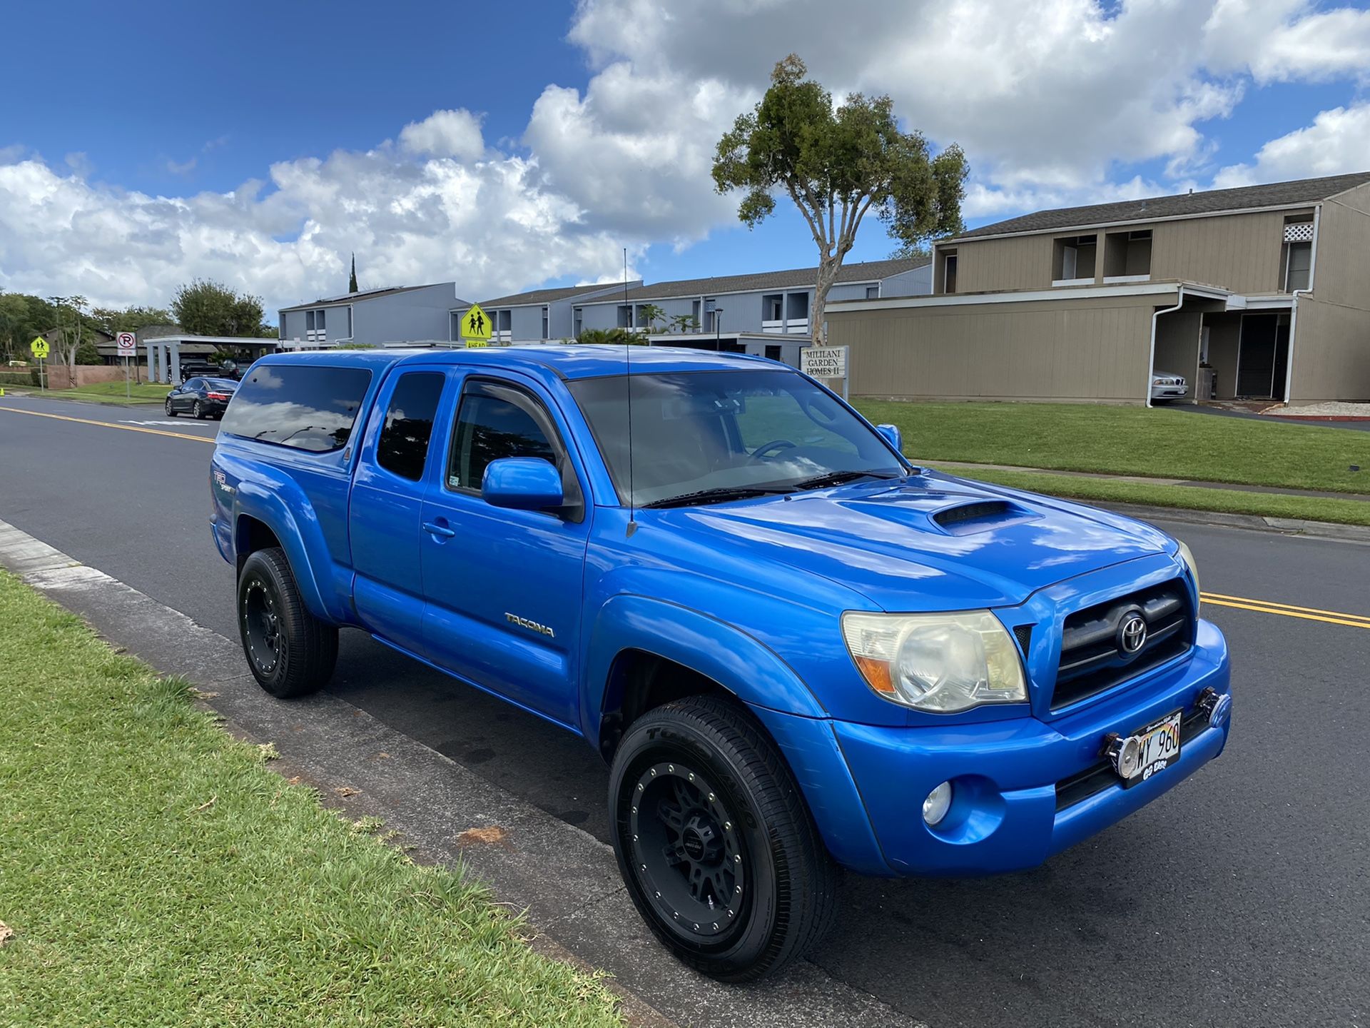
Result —
<path fill-rule="evenodd" d="M 851 395 L 1141 403 L 1154 296 L 829 310 Z"/>

